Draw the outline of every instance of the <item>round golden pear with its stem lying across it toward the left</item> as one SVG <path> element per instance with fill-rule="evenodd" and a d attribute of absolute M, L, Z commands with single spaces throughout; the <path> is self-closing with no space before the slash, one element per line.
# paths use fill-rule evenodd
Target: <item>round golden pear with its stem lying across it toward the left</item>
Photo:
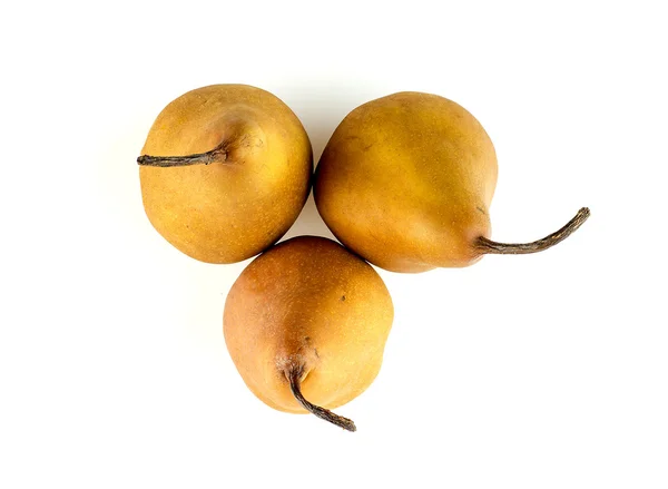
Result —
<path fill-rule="evenodd" d="M 274 95 L 212 85 L 158 115 L 137 162 L 146 214 L 169 243 L 235 263 L 278 241 L 311 189 L 308 136 Z"/>

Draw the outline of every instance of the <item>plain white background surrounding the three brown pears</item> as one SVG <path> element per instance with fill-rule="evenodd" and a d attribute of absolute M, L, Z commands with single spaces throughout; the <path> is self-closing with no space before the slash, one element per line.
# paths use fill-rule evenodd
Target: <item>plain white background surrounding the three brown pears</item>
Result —
<path fill-rule="evenodd" d="M 668 487 L 662 3 L 2 7 L 0 487 Z M 218 82 L 281 97 L 316 158 L 364 101 L 445 96 L 495 144 L 494 238 L 592 216 L 542 254 L 381 272 L 358 431 L 274 411 L 222 335 L 247 262 L 181 255 L 141 206 L 154 118 Z M 312 199 L 299 234 L 331 236 Z"/>

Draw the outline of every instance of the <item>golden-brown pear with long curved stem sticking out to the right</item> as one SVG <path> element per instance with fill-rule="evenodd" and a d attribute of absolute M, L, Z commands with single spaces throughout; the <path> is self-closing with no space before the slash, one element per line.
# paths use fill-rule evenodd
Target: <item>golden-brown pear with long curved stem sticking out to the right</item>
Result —
<path fill-rule="evenodd" d="M 543 239 L 490 239 L 497 155 L 480 123 L 436 95 L 400 92 L 338 125 L 316 168 L 317 209 L 350 250 L 394 272 L 462 267 L 484 254 L 546 250 L 589 216 L 582 208 Z"/>

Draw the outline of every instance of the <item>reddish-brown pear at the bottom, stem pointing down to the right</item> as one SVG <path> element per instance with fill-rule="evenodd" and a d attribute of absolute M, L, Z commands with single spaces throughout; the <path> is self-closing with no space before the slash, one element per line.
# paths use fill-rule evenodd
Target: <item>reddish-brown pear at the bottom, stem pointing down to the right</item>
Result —
<path fill-rule="evenodd" d="M 393 315 L 371 265 L 331 239 L 299 236 L 244 270 L 227 295 L 223 329 L 244 382 L 267 405 L 355 431 L 330 410 L 373 382 Z"/>

